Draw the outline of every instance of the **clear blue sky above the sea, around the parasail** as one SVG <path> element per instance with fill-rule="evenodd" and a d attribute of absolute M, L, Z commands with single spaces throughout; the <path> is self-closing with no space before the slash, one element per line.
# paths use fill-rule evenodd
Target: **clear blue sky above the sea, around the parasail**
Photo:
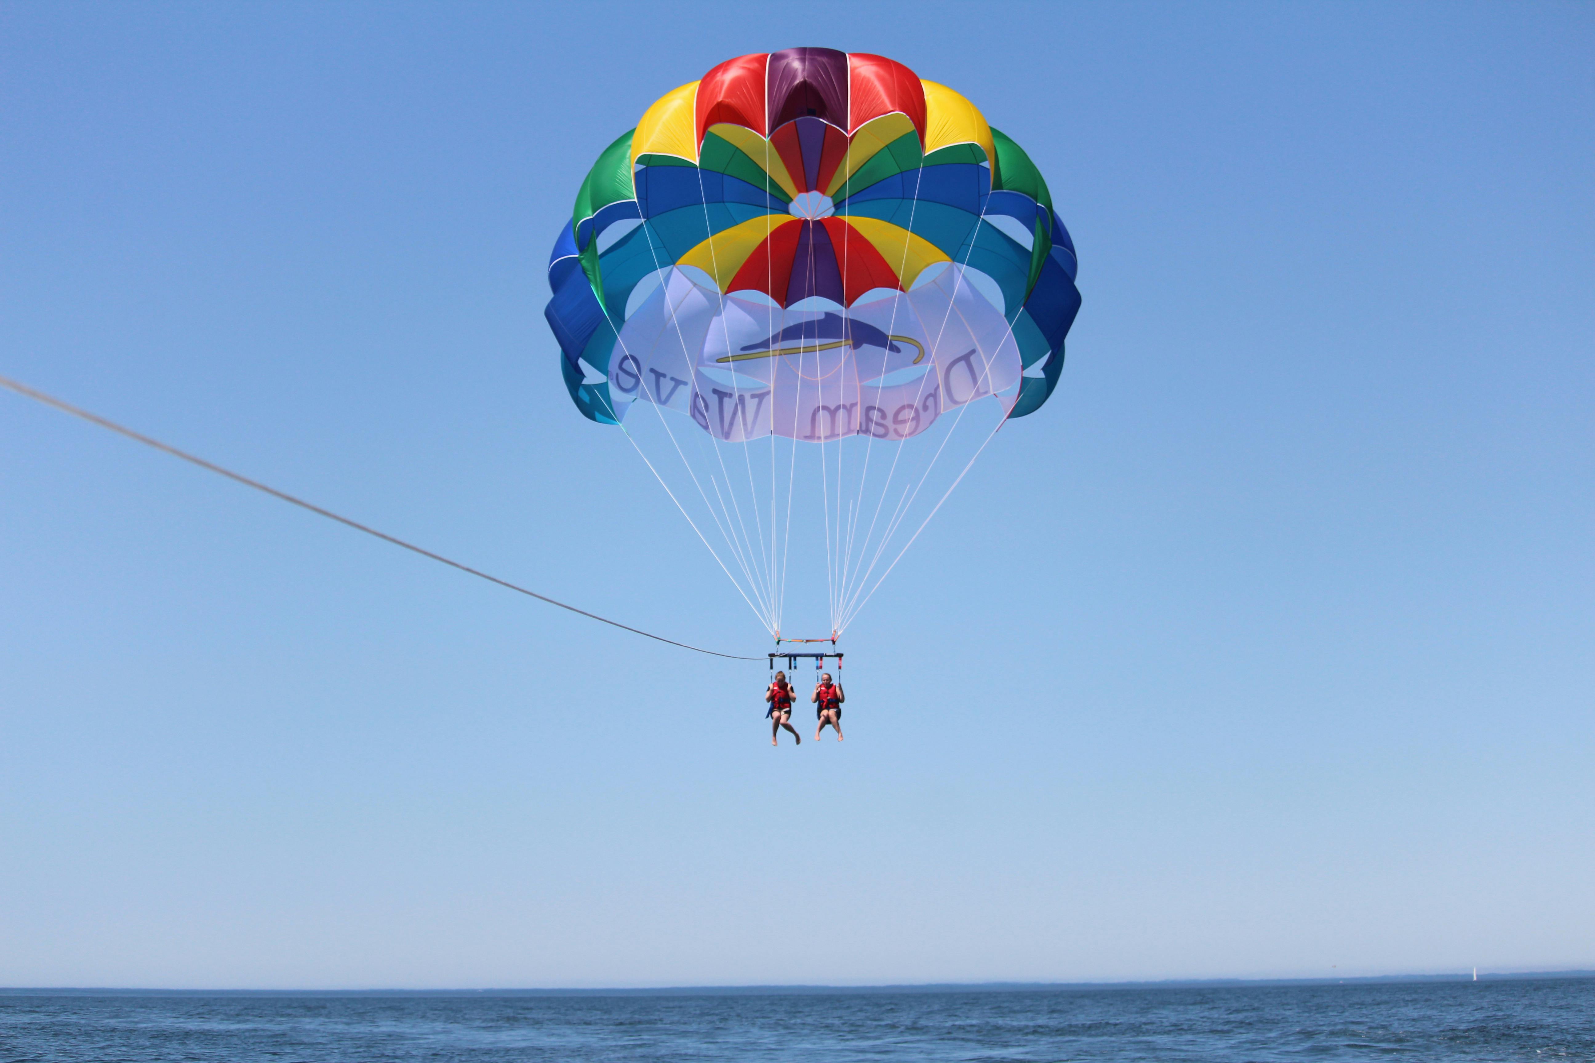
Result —
<path fill-rule="evenodd" d="M 0 373 L 762 653 L 544 265 L 649 102 L 796 45 L 975 100 L 1085 296 L 847 743 L 0 394 L 0 985 L 1595 967 L 1587 5 L 5 3 Z"/>

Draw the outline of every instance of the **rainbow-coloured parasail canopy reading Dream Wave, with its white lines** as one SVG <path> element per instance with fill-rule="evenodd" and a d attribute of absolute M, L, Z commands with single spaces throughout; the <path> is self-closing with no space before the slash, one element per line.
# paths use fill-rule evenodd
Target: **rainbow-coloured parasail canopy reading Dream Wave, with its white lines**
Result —
<path fill-rule="evenodd" d="M 976 400 L 997 426 L 1034 413 L 1062 370 L 1075 269 L 1046 182 L 973 104 L 892 59 L 791 48 L 665 94 L 598 156 L 549 263 L 547 319 L 587 418 L 632 435 L 638 403 L 668 411 L 670 446 L 740 558 L 721 567 L 743 569 L 772 633 L 785 582 L 770 558 L 783 553 L 774 496 L 785 486 L 790 529 L 798 454 L 785 484 L 774 470 L 758 483 L 742 456 L 754 532 L 726 500 L 734 477 L 718 446 L 767 441 L 772 459 L 777 438 L 821 446 L 839 631 L 849 594 L 872 579 L 852 567 L 853 550 L 885 547 L 872 532 L 860 542 L 869 499 L 842 494 L 845 448 L 863 445 L 868 470 L 877 441 L 962 422 Z M 718 469 L 691 469 L 671 422 L 707 438 Z M 911 504 L 885 526 L 882 505 L 871 529 L 908 528 Z"/>

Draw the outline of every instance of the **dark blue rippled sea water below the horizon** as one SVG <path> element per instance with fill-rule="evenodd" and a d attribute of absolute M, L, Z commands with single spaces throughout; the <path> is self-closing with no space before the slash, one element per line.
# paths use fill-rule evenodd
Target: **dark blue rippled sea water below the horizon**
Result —
<path fill-rule="evenodd" d="M 1579 1060 L 1595 979 L 1024 990 L 0 991 L 0 1063 Z"/>

